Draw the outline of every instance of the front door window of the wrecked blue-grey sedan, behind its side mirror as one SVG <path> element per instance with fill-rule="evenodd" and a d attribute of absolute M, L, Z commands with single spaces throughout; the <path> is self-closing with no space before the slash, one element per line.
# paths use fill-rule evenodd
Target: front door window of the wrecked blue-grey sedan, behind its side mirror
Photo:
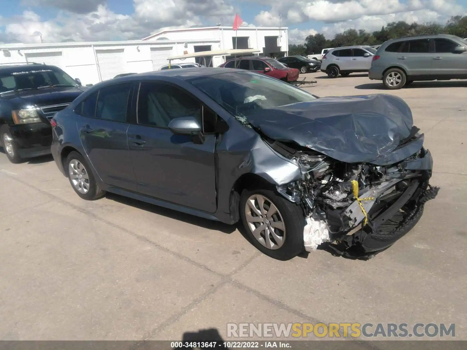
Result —
<path fill-rule="evenodd" d="M 141 83 L 138 124 L 167 128 L 172 119 L 181 117 L 194 117 L 201 124 L 201 103 L 176 86 Z"/>

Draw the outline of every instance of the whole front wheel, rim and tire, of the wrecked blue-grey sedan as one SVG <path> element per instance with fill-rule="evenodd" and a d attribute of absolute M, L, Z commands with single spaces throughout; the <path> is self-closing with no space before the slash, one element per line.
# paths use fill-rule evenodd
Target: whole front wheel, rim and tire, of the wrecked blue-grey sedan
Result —
<path fill-rule="evenodd" d="M 290 260 L 304 250 L 302 208 L 269 189 L 244 190 L 241 221 L 248 239 L 271 258 Z"/>

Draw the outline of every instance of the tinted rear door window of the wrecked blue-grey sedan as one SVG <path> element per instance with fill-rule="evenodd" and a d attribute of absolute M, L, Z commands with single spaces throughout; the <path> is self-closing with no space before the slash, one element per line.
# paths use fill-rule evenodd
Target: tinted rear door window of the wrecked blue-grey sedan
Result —
<path fill-rule="evenodd" d="M 132 84 L 119 84 L 100 89 L 97 99 L 96 118 L 127 121 L 128 100 Z"/>

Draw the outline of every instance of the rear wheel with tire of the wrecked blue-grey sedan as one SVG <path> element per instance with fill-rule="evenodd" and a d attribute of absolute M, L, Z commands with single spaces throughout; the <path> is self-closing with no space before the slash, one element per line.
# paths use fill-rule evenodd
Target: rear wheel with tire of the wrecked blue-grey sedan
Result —
<path fill-rule="evenodd" d="M 82 199 L 93 201 L 105 195 L 92 175 L 92 171 L 78 152 L 71 152 L 65 161 L 65 171 L 70 180 L 71 187 Z"/>

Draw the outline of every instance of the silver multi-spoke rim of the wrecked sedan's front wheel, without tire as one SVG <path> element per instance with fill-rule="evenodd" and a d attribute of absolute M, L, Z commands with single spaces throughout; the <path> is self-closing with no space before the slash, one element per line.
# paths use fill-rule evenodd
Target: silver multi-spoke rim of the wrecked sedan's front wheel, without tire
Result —
<path fill-rule="evenodd" d="M 276 250 L 285 242 L 285 224 L 276 205 L 265 196 L 252 195 L 245 204 L 248 228 L 261 245 Z"/>

